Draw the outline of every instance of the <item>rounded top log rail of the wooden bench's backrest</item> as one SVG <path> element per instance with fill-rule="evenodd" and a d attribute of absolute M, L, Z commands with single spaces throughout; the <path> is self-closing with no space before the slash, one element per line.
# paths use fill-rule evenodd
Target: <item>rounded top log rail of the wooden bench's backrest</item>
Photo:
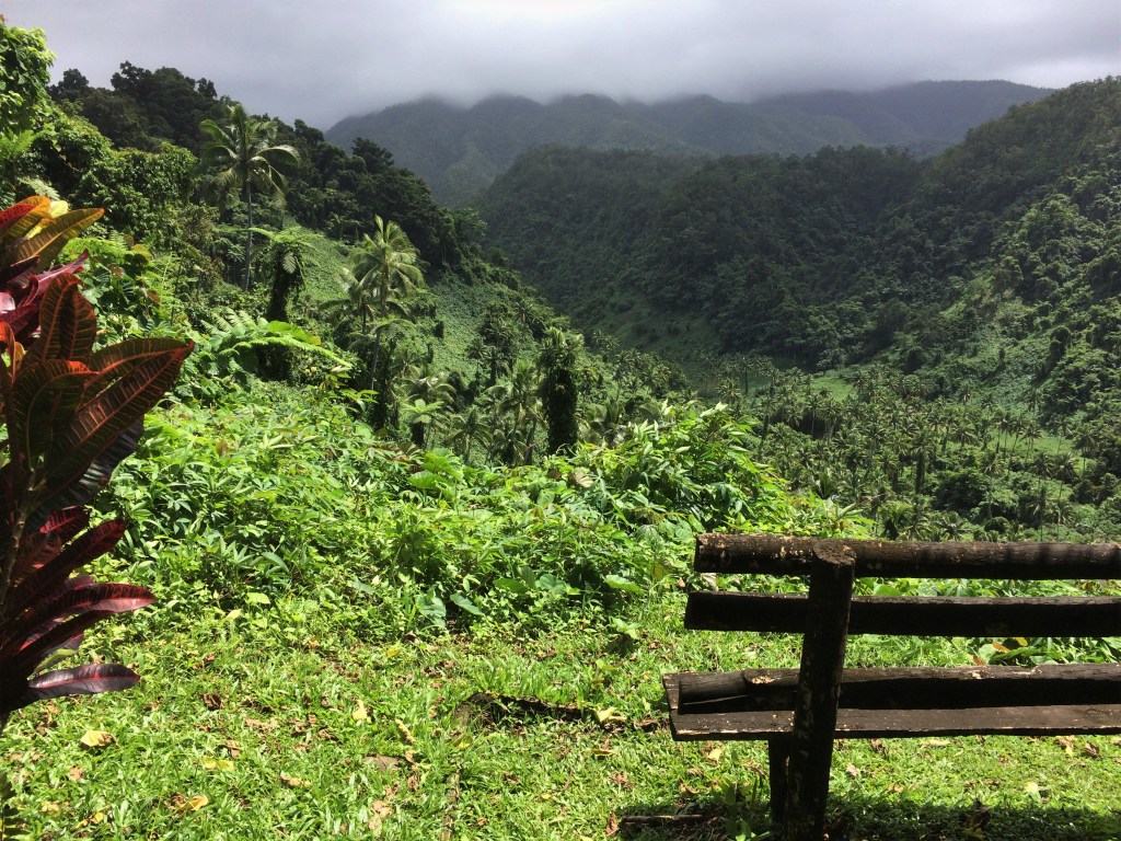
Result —
<path fill-rule="evenodd" d="M 892 543 L 777 535 L 697 536 L 697 572 L 799 575 L 813 547 L 849 546 L 856 575 L 926 579 L 1121 579 L 1121 544 Z"/>

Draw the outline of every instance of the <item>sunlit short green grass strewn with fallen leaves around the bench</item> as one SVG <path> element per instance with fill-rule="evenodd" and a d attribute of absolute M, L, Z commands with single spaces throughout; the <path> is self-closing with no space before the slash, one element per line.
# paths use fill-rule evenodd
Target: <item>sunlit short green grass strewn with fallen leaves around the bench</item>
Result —
<path fill-rule="evenodd" d="M 138 688 L 9 723 L 20 832 L 544 840 L 604 838 L 622 821 L 621 838 L 750 838 L 767 829 L 765 746 L 674 742 L 659 676 L 789 665 L 795 644 L 686 632 L 683 606 L 656 595 L 638 638 L 593 614 L 534 638 L 481 627 L 379 641 L 345 616 L 284 603 L 150 611 L 87 644 L 138 668 Z M 852 660 L 906 651 L 856 640 Z M 961 663 L 969 646 L 911 653 Z M 89 730 L 113 740 L 83 747 Z M 832 791 L 828 820 L 845 838 L 1115 839 L 1121 740 L 844 741 Z M 675 813 L 708 819 L 687 832 L 624 820 Z"/>

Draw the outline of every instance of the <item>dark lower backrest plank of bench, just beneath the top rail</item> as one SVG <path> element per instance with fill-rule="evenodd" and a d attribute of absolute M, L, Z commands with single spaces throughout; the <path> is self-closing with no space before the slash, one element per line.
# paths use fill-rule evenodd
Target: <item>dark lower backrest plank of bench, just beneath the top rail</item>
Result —
<path fill-rule="evenodd" d="M 685 627 L 800 634 L 808 597 L 790 593 L 693 592 Z M 980 599 L 861 595 L 852 600 L 850 634 L 919 637 L 1117 637 L 1121 598 Z"/>

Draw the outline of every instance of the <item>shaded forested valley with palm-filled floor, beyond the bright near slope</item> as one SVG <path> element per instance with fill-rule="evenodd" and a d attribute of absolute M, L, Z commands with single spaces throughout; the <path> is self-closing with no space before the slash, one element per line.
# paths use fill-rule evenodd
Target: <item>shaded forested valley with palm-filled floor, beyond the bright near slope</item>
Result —
<path fill-rule="evenodd" d="M 1121 466 L 1119 136 L 1105 80 L 928 160 L 538 149 L 481 213 L 590 335 L 759 418 L 796 487 L 891 536 L 1091 539 Z"/>

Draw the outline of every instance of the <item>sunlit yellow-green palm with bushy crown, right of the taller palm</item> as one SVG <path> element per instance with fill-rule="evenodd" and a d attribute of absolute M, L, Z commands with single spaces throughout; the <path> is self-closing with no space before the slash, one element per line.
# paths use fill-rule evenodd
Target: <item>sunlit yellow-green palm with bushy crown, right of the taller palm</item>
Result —
<path fill-rule="evenodd" d="M 351 265 L 344 278 L 345 301 L 360 315 L 362 332 L 365 332 L 368 322 L 373 322 L 371 389 L 378 383 L 381 330 L 391 321 L 390 311 L 407 312 L 409 296 L 424 287 L 420 258 L 408 235 L 396 222 L 386 222 L 381 216 L 374 216 L 373 220 L 377 229 L 374 235 L 363 235 L 362 242 L 351 255 Z"/>

